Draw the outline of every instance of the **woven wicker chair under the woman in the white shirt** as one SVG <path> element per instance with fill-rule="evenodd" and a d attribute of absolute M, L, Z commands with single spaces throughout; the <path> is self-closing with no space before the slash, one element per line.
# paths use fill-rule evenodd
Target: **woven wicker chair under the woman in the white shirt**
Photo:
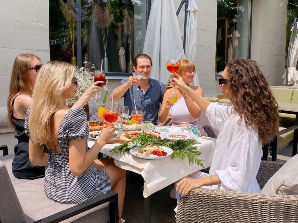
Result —
<path fill-rule="evenodd" d="M 262 161 L 257 181 L 262 189 L 283 163 Z M 298 222 L 298 195 L 238 193 L 198 188 L 180 198 L 176 222 Z"/>

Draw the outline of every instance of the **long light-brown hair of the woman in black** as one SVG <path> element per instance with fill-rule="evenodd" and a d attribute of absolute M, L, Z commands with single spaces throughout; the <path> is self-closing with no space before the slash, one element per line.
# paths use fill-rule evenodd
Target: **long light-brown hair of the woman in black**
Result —
<path fill-rule="evenodd" d="M 29 72 L 29 63 L 31 59 L 38 59 L 41 62 L 41 59 L 38 56 L 35 56 L 33 54 L 19 54 L 15 58 L 15 62 L 13 63 L 13 70 L 11 73 L 10 78 L 10 86 L 9 86 L 9 96 L 7 100 L 7 121 L 9 125 L 14 128 L 13 121 L 11 119 L 12 112 L 13 112 L 13 99 L 16 95 L 28 92 L 29 94 L 32 94 L 32 88 L 34 86 L 31 86 L 29 78 L 28 78 L 28 72 Z"/>

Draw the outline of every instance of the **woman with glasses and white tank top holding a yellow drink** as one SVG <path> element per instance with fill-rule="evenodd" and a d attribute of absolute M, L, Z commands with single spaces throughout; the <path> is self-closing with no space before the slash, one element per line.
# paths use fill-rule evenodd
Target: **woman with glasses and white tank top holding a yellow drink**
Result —
<path fill-rule="evenodd" d="M 193 82 L 193 77 L 195 76 L 196 70 L 195 65 L 188 59 L 179 60 L 179 69 L 177 74 L 179 74 L 184 83 L 193 89 L 198 95 L 204 97 L 203 88 L 198 86 L 193 86 L 190 83 Z M 161 123 L 168 123 L 169 118 L 172 119 L 172 126 L 190 126 L 196 125 L 198 126 L 198 130 L 200 131 L 202 136 L 208 136 L 202 127 L 199 117 L 201 114 L 201 108 L 193 101 L 192 98 L 187 97 L 187 95 L 176 88 L 168 87 L 167 84 L 164 92 L 164 97 L 162 100 L 162 108 L 158 114 L 158 120 Z M 169 100 L 169 95 L 171 92 L 177 93 L 177 102 L 174 104 Z"/>

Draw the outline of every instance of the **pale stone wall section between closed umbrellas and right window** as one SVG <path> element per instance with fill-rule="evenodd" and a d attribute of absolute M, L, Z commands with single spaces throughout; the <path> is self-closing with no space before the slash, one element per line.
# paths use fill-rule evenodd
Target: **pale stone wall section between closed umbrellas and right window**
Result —
<path fill-rule="evenodd" d="M 174 0 L 176 10 L 181 0 Z M 197 12 L 197 48 L 195 67 L 199 77 L 200 86 L 204 89 L 204 95 L 216 96 L 221 93 L 218 80 L 215 78 L 215 45 L 217 24 L 217 0 L 195 0 L 198 6 Z M 185 6 L 183 6 L 183 9 Z M 184 10 L 178 15 L 178 22 L 184 24 Z"/>

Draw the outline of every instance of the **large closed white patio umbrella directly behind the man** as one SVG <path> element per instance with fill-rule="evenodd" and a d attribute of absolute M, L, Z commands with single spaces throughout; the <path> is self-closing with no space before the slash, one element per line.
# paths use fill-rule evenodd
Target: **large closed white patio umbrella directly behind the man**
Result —
<path fill-rule="evenodd" d="M 153 1 L 143 53 L 153 62 L 150 78 L 165 84 L 170 77 L 167 61 L 185 58 L 173 0 Z"/>

